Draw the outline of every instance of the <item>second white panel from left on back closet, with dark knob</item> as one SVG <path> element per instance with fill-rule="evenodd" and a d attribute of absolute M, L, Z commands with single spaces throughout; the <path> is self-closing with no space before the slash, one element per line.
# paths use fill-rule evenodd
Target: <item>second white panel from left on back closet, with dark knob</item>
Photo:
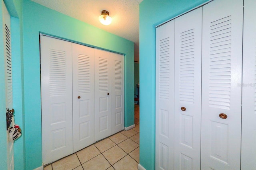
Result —
<path fill-rule="evenodd" d="M 94 143 L 94 48 L 72 43 L 73 148 Z"/>

